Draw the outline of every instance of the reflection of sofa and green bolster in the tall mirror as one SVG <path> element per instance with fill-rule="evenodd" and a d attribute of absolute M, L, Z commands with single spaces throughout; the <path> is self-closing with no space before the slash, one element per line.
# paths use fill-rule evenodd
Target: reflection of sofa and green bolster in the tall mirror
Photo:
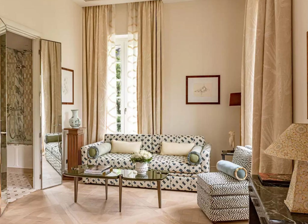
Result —
<path fill-rule="evenodd" d="M 47 162 L 60 174 L 62 161 L 62 133 L 49 133 L 45 135 L 45 158 Z"/>

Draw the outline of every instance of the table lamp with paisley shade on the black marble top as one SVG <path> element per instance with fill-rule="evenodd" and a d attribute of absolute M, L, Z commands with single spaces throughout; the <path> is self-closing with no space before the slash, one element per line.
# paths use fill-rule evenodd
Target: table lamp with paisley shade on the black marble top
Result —
<path fill-rule="evenodd" d="M 295 160 L 285 204 L 291 212 L 308 213 L 308 124 L 291 124 L 265 154 Z"/>

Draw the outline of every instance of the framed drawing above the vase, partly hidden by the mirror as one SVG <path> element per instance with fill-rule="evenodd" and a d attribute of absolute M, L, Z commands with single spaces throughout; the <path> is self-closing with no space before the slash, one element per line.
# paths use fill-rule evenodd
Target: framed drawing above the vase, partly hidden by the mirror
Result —
<path fill-rule="evenodd" d="M 62 104 L 74 104 L 74 70 L 62 68 Z"/>

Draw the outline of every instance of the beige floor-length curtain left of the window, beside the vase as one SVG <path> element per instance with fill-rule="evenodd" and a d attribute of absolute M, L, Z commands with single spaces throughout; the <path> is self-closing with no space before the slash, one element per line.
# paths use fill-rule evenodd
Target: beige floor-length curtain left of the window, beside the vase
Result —
<path fill-rule="evenodd" d="M 87 127 L 85 144 L 103 140 L 106 134 L 107 74 L 112 64 L 108 62 L 108 54 L 112 49 L 110 45 L 114 45 L 114 8 L 114 5 L 83 8 L 83 125 Z"/>

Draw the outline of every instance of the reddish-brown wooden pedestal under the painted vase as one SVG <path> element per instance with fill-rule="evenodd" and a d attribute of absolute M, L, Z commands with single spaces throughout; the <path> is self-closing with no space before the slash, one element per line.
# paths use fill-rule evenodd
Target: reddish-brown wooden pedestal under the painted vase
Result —
<path fill-rule="evenodd" d="M 83 130 L 84 127 L 79 128 L 64 128 L 68 130 L 67 133 L 67 169 L 73 166 L 81 165 L 81 151 L 83 146 Z M 63 180 L 74 180 L 74 178 L 63 176 Z"/>

